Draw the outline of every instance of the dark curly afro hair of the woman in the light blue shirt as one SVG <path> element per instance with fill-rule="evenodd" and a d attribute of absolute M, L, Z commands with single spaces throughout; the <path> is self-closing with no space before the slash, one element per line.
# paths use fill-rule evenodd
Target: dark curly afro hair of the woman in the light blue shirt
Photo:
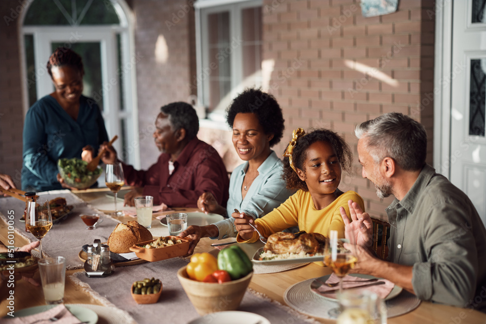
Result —
<path fill-rule="evenodd" d="M 282 109 L 271 94 L 260 89 L 247 88 L 236 97 L 226 109 L 226 122 L 233 127 L 235 117 L 239 113 L 253 113 L 257 115 L 261 128 L 265 134 L 273 134 L 270 147 L 277 144 L 283 136 L 285 126 Z"/>

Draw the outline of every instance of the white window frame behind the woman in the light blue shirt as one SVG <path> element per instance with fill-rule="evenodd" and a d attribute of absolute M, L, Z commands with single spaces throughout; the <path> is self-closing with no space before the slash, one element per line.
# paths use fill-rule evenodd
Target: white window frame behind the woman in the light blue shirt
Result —
<path fill-rule="evenodd" d="M 262 0 L 198 0 L 194 3 L 195 8 L 195 29 L 196 29 L 196 71 L 197 71 L 197 98 L 198 103 L 204 107 L 208 106 L 209 102 L 209 78 L 205 76 L 204 71 L 209 68 L 208 55 L 208 15 L 218 12 L 229 12 L 229 38 L 230 44 L 233 39 L 242 39 L 242 10 L 250 7 L 263 6 Z M 231 60 L 231 90 L 229 93 L 230 99 L 234 99 L 243 88 L 239 85 L 243 81 L 243 46 L 232 49 L 230 55 Z M 261 82 L 261 81 L 260 81 Z M 260 86 L 257 84 L 257 86 Z M 215 107 L 211 107 L 214 109 Z M 203 127 L 211 127 L 217 129 L 227 129 L 226 117 L 221 111 L 214 111 L 208 113 L 207 119 L 200 120 Z"/>

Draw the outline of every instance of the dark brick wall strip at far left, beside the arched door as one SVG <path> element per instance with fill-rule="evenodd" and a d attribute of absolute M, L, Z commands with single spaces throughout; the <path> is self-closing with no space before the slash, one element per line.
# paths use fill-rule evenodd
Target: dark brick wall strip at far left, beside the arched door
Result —
<path fill-rule="evenodd" d="M 0 173 L 11 175 L 18 188 L 23 129 L 17 35 L 17 18 L 21 10 L 22 6 L 16 0 L 0 1 Z"/>

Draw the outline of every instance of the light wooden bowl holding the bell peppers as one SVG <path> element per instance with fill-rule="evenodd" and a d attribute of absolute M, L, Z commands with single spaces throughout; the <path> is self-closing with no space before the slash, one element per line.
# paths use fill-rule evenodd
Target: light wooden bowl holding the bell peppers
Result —
<path fill-rule="evenodd" d="M 177 271 L 177 278 L 199 315 L 238 309 L 252 275 L 253 272 L 243 278 L 218 284 L 189 279 L 186 267 Z"/>

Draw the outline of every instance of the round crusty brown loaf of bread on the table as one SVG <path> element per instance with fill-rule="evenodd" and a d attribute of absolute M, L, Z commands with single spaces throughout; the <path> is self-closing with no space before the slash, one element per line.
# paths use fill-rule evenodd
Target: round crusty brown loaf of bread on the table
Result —
<path fill-rule="evenodd" d="M 129 253 L 130 246 L 149 241 L 152 233 L 137 221 L 118 224 L 108 238 L 110 251 L 113 253 Z"/>

